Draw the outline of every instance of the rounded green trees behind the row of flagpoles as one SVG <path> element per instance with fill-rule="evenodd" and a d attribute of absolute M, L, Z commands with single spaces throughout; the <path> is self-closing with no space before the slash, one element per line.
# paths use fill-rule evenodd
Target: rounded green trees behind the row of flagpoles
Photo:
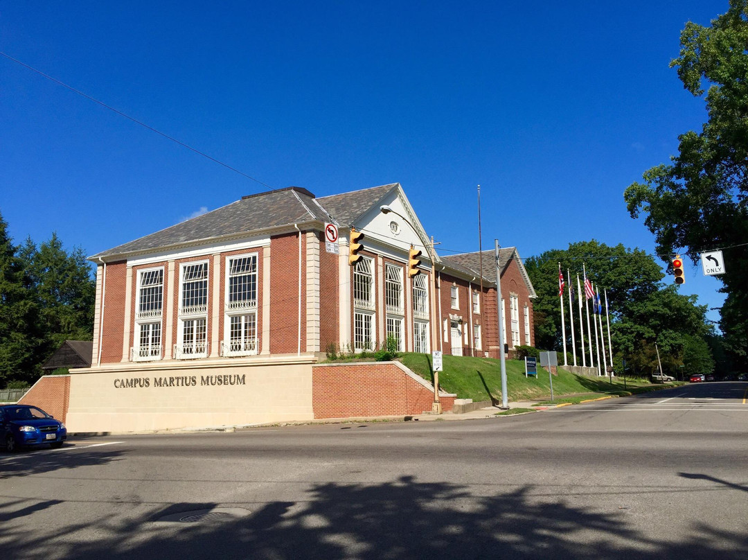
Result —
<path fill-rule="evenodd" d="M 582 363 L 577 276 L 581 284 L 584 264 L 587 278 L 595 284 L 595 290 L 607 292 L 617 371 L 621 371 L 622 359 L 626 359 L 627 371 L 633 369 L 642 374 L 651 374 L 657 368 L 655 343 L 660 349 L 660 360 L 665 371 L 677 374 L 681 365 L 698 368 L 702 373 L 714 369 L 711 350 L 705 342 L 711 333 L 711 326 L 705 318 L 706 306 L 697 305 L 696 296 L 679 294 L 675 286 L 663 286 L 660 283 L 663 273 L 651 255 L 640 249 L 627 249 L 620 244 L 611 247 L 595 240 L 572 243 L 566 250 L 553 249 L 527 260 L 525 268 L 538 294 L 533 302 L 537 347 L 548 350 L 562 350 L 563 347 L 559 263 L 566 283 L 564 314 L 569 353 L 572 352 L 569 284 L 574 292 L 572 309 L 577 364 Z M 585 337 L 588 337 L 584 305 L 582 312 Z M 592 310 L 590 316 L 594 317 Z M 605 320 L 603 322 L 606 323 Z M 607 344 L 607 327 L 604 334 Z M 589 339 L 586 339 L 585 347 L 589 347 Z"/>

